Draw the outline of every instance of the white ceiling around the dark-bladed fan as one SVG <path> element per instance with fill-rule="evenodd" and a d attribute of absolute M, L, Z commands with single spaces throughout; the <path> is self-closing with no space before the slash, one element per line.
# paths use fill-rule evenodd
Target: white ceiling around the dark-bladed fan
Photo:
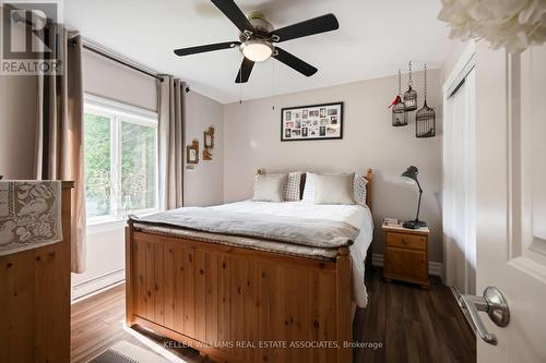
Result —
<path fill-rule="evenodd" d="M 408 60 L 441 65 L 448 28 L 437 21 L 440 0 L 236 0 L 245 13 L 262 11 L 275 27 L 334 13 L 340 29 L 280 44 L 319 69 L 306 77 L 273 61 L 258 63 L 247 84 L 235 84 L 237 49 L 177 57 L 175 48 L 238 39 L 238 29 L 209 0 L 67 0 L 69 27 L 161 73 L 186 80 L 221 102 L 271 96 L 391 75 Z M 273 68 L 273 63 L 274 68 Z"/>

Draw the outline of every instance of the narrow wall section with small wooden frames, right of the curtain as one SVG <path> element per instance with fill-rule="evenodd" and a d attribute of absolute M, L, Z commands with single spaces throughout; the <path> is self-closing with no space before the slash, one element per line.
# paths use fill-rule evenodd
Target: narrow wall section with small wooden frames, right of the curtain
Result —
<path fill-rule="evenodd" d="M 199 164 L 185 168 L 185 205 L 211 206 L 224 201 L 224 108 L 223 105 L 193 90 L 186 94 L 185 145 L 199 140 Z M 213 126 L 212 160 L 203 160 L 203 132 Z M 186 149 L 185 149 L 186 152 Z M 185 160 L 186 161 L 186 160 Z"/>

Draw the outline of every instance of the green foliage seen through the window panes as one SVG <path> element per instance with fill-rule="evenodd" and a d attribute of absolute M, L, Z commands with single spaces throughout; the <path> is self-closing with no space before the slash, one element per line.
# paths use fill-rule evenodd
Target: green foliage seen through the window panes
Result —
<path fill-rule="evenodd" d="M 112 128 L 119 125 L 121 135 L 112 142 L 116 134 L 111 132 Z M 156 140 L 153 126 L 85 113 L 84 170 L 88 217 L 119 216 L 156 207 Z M 120 148 L 119 161 L 116 161 L 112 145 Z M 120 162 L 120 168 L 117 168 L 117 162 Z M 112 205 L 117 210 L 111 210 Z"/>

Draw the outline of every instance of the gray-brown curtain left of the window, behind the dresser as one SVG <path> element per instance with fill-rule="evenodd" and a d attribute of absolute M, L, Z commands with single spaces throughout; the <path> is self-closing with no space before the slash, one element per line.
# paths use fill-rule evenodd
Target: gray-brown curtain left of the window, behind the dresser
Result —
<path fill-rule="evenodd" d="M 38 76 L 36 170 L 38 180 L 74 181 L 72 271 L 85 270 L 85 190 L 83 179 L 82 39 L 51 26 L 46 45 L 61 61 L 56 74 Z M 49 55 L 44 53 L 44 57 Z"/>

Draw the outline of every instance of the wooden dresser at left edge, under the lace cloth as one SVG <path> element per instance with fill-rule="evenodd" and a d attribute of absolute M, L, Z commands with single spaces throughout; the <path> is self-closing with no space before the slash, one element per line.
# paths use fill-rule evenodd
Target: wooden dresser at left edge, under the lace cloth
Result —
<path fill-rule="evenodd" d="M 0 256 L 0 362 L 70 362 L 73 182 L 62 183 L 62 237 Z"/>

